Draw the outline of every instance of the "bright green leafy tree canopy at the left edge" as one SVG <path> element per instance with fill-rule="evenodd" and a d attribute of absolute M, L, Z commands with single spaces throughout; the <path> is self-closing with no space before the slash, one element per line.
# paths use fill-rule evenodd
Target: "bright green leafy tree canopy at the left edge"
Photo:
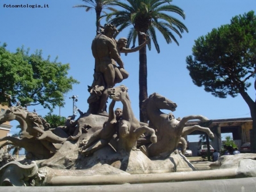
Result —
<path fill-rule="evenodd" d="M 14 105 L 42 105 L 52 110 L 64 106 L 64 94 L 79 82 L 68 77 L 69 64 L 45 60 L 42 51 L 29 55 L 29 49 L 15 53 L 0 47 L 0 103 Z"/>

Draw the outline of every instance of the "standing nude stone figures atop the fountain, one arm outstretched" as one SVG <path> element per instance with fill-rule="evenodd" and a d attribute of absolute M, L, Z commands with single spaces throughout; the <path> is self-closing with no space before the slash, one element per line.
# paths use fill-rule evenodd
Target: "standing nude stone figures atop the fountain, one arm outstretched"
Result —
<path fill-rule="evenodd" d="M 108 101 L 107 89 L 129 77 L 129 73 L 123 68 L 121 53 L 139 51 L 147 43 L 135 48 L 126 48 L 127 39 L 114 39 L 117 29 L 112 24 L 105 24 L 102 34 L 98 34 L 92 42 L 92 53 L 95 58 L 95 73 L 93 85 L 89 88 L 91 94 L 88 98 L 89 113 L 108 116 L 105 111 Z M 117 64 L 119 66 L 117 66 Z M 98 102 L 100 98 L 100 102 Z M 92 105 L 94 103 L 94 105 Z"/>

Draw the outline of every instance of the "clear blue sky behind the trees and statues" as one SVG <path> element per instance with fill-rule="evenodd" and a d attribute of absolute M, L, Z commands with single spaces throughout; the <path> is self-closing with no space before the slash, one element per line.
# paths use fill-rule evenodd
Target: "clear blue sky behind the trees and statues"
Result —
<path fill-rule="evenodd" d="M 147 49 L 148 65 L 148 95 L 156 92 L 172 101 L 178 107 L 174 112 L 176 118 L 187 115 L 204 115 L 209 119 L 247 118 L 250 117 L 249 107 L 238 95 L 236 98 L 228 97 L 220 99 L 204 91 L 203 87 L 197 87 L 192 83 L 186 68 L 185 59 L 192 54 L 194 41 L 213 28 L 222 24 L 229 24 L 233 16 L 244 14 L 256 8 L 255 0 L 174 0 L 174 5 L 184 10 L 186 18 L 172 14 L 180 19 L 189 32 L 184 33 L 179 39 L 179 46 L 175 43 L 167 44 L 158 34 L 160 53 L 154 47 Z M 3 5 L 43 5 L 49 8 L 8 8 Z M 0 42 L 7 43 L 7 49 L 14 52 L 16 48 L 24 45 L 30 48 L 30 53 L 36 49 L 43 50 L 43 56 L 47 59 L 51 55 L 52 61 L 58 56 L 58 61 L 69 63 L 71 69 L 69 75 L 80 81 L 74 85 L 73 90 L 65 95 L 65 107 L 60 109 L 61 116 L 72 115 L 72 95 L 79 95 L 77 107 L 82 111 L 88 109 L 86 103 L 89 93 L 87 85 L 92 84 L 94 58 L 90 45 L 96 35 L 96 14 L 93 11 L 85 12 L 81 8 L 72 8 L 80 5 L 80 0 L 0 0 Z M 101 21 L 105 24 L 105 20 Z M 121 32 L 117 38 L 126 37 L 127 30 Z M 122 82 L 129 87 L 131 105 L 137 118 L 139 118 L 139 84 L 138 70 L 139 57 L 137 53 L 122 55 L 125 69 L 130 77 Z M 255 99 L 255 90 L 248 90 L 250 97 Z M 121 103 L 117 107 L 122 107 Z M 29 107 L 40 115 L 46 115 L 48 110 L 42 106 Z M 167 111 L 168 112 L 168 111 Z M 54 111 L 59 114 L 59 108 Z M 11 122 L 15 127 L 17 122 Z M 17 130 L 12 128 L 13 132 Z"/>

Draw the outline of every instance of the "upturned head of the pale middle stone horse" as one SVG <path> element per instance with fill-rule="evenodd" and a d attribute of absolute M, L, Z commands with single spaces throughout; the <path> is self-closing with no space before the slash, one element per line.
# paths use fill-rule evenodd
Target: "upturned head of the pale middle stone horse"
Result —
<path fill-rule="evenodd" d="M 114 101 L 125 101 L 125 99 L 129 99 L 129 95 L 127 94 L 128 88 L 124 85 L 120 85 L 118 87 L 108 89 L 108 94 L 111 99 Z"/>

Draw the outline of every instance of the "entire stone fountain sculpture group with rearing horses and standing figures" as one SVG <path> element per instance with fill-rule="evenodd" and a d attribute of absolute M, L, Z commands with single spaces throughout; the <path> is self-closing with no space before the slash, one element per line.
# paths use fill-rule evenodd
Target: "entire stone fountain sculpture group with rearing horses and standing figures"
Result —
<path fill-rule="evenodd" d="M 89 87 L 89 109 L 80 112 L 76 120 L 67 119 L 64 126 L 49 128 L 49 123 L 26 107 L 11 106 L 0 114 L 0 124 L 17 120 L 22 129 L 20 137 L 0 138 L 5 145 L 16 145 L 26 150 L 26 158 L 11 161 L 0 168 L 0 185 L 43 186 L 56 176 L 84 176 L 88 174 L 138 174 L 168 173 L 195 170 L 183 156 L 189 133 L 200 130 L 214 137 L 206 127 L 186 127 L 188 120 L 208 121 L 201 115 L 175 119 L 172 112 L 176 103 L 153 93 L 141 110 L 147 123 L 135 118 L 131 108 L 128 88 L 114 87 L 129 74 L 123 69 L 121 52 L 138 51 L 142 46 L 127 49 L 126 40 L 113 39 L 115 27 L 105 25 L 92 43 L 95 73 Z M 147 42 L 145 40 L 145 42 Z M 115 64 L 118 63 L 119 66 Z M 106 112 L 106 100 L 112 99 Z M 114 111 L 115 102 L 122 102 L 122 114 Z M 120 112 L 120 110 L 119 110 Z M 183 149 L 177 150 L 179 143 Z M 102 168 L 102 166 L 104 168 Z M 17 174 L 10 174 L 10 170 Z M 109 171 L 107 171 L 109 170 Z M 62 183 L 65 185 L 65 181 Z"/>

